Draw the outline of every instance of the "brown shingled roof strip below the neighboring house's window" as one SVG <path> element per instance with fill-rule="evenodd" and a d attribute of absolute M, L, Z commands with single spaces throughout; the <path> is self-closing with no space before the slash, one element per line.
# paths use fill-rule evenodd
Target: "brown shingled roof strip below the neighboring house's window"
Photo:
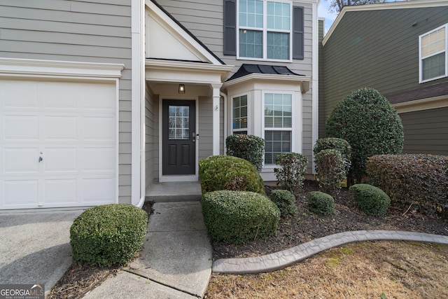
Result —
<path fill-rule="evenodd" d="M 415 101 L 417 99 L 429 99 L 447 95 L 448 81 L 427 85 L 413 90 L 402 90 L 384 95 L 391 104 Z"/>

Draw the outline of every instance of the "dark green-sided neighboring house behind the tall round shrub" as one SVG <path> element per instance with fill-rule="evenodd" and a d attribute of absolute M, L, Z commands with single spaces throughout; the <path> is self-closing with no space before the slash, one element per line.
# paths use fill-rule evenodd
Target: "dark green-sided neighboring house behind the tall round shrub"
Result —
<path fill-rule="evenodd" d="M 347 6 L 320 50 L 320 137 L 335 105 L 370 87 L 398 111 L 404 153 L 448 155 L 448 1 Z"/>

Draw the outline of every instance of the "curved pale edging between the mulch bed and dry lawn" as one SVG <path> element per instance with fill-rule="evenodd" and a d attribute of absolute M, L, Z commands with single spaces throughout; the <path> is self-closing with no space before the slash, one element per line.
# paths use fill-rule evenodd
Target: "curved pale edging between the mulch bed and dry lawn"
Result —
<path fill-rule="evenodd" d="M 225 274 L 256 274 L 260 272 L 272 272 L 302 260 L 306 260 L 316 253 L 320 253 L 335 246 L 353 242 L 378 240 L 448 244 L 448 236 L 444 235 L 397 230 L 355 230 L 350 232 L 338 232 L 337 234 L 314 239 L 290 249 L 270 253 L 265 256 L 255 256 L 251 258 L 221 258 L 214 261 L 211 270 L 215 273 Z"/>

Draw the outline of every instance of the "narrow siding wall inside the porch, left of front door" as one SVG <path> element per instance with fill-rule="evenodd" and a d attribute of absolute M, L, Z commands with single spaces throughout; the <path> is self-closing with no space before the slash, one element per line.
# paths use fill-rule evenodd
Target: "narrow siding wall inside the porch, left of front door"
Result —
<path fill-rule="evenodd" d="M 146 190 L 158 180 L 159 172 L 159 100 L 146 86 L 145 95 L 145 153 Z"/>

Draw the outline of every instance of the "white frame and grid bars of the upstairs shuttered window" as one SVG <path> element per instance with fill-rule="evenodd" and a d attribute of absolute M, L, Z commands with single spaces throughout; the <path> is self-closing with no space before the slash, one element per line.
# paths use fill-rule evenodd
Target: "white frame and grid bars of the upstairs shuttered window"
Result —
<path fill-rule="evenodd" d="M 237 0 L 237 60 L 253 60 L 253 61 L 269 61 L 269 62 L 293 62 L 293 2 L 292 1 L 282 1 L 282 0 L 262 0 L 263 1 L 263 29 L 256 27 L 240 27 L 239 26 L 239 0 Z M 271 2 L 281 2 L 290 5 L 290 24 L 289 30 L 280 29 L 267 29 L 267 1 Z M 239 56 L 239 29 L 262 31 L 262 41 L 263 41 L 263 57 L 243 57 Z M 267 58 L 267 32 L 281 32 L 289 34 L 289 59 L 288 60 L 276 60 Z"/>

